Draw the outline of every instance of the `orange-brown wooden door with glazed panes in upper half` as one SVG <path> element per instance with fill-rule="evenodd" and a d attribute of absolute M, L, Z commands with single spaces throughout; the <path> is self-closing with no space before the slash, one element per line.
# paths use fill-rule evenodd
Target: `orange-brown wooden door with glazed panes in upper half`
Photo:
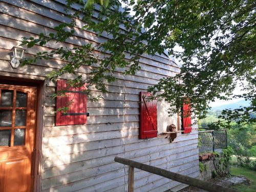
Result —
<path fill-rule="evenodd" d="M 0 191 L 33 186 L 36 88 L 0 84 Z"/>

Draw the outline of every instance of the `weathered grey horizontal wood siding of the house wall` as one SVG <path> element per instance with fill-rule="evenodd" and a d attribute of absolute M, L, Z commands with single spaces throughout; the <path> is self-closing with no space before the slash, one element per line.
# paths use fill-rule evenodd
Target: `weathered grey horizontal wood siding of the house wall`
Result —
<path fill-rule="evenodd" d="M 0 1 L 0 75 L 44 79 L 45 75 L 62 66 L 58 58 L 40 60 L 35 65 L 12 69 L 9 63 L 11 48 L 23 36 L 48 35 L 61 22 L 64 0 Z M 83 24 L 77 20 L 81 27 Z M 59 46 L 97 44 L 111 38 L 98 37 L 88 31 L 75 29 L 76 37 L 65 43 L 50 42 L 44 48 L 35 46 L 26 51 L 29 57 L 38 51 L 49 51 Z M 127 58 L 128 55 L 126 55 Z M 178 66 L 166 55 L 147 56 L 140 59 L 141 70 L 135 75 L 123 76 L 117 69 L 116 82 L 107 83 L 109 93 L 97 102 L 88 100 L 90 117 L 86 125 L 54 126 L 55 101 L 51 94 L 55 84 L 46 83 L 45 121 L 42 146 L 42 191 L 126 191 L 127 167 L 114 162 L 115 156 L 133 159 L 191 177 L 199 176 L 198 132 L 179 135 L 170 143 L 166 136 L 138 139 L 139 92 L 155 84 L 162 77 L 179 72 Z M 93 67 L 81 67 L 84 77 Z M 64 78 L 72 77 L 67 75 Z M 94 95 L 99 92 L 93 91 Z M 159 127 L 163 130 L 163 127 Z M 183 185 L 160 176 L 135 169 L 136 191 L 164 191 Z"/>

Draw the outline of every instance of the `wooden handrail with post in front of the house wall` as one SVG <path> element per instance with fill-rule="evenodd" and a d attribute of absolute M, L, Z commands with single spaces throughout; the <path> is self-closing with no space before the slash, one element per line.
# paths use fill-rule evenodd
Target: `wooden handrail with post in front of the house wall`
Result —
<path fill-rule="evenodd" d="M 154 167 L 151 165 L 146 165 L 143 163 L 139 163 L 137 161 L 132 161 L 129 159 L 124 159 L 121 157 L 115 157 L 115 161 L 118 163 L 122 163 L 125 165 L 129 165 L 129 177 L 128 177 L 128 192 L 133 192 L 134 191 L 134 168 L 138 168 L 141 170 L 144 170 L 145 172 L 149 172 L 152 174 L 160 175 L 162 177 L 172 179 L 174 181 L 178 181 L 180 183 L 184 183 L 187 185 L 191 185 L 194 187 L 198 187 L 210 192 L 238 192 L 237 190 L 223 187 L 220 185 L 216 185 L 207 181 L 202 181 L 199 179 L 195 179 L 192 177 L 180 175 L 174 172 L 169 172 L 168 170 Z"/>

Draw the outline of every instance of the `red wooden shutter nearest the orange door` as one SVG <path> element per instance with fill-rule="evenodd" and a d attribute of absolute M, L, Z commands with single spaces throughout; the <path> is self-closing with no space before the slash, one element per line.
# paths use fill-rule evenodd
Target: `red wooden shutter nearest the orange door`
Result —
<path fill-rule="evenodd" d="M 66 80 L 57 80 L 57 91 L 66 90 Z M 82 92 L 85 87 L 69 88 L 66 96 L 57 96 L 56 108 L 69 107 L 66 114 L 57 111 L 56 125 L 86 124 L 87 122 L 87 95 Z M 69 105 L 70 103 L 70 105 Z"/>

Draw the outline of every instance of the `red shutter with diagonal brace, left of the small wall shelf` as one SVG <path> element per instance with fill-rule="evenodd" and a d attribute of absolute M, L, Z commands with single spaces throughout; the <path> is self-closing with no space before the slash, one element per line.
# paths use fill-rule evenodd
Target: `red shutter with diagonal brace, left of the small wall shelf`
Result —
<path fill-rule="evenodd" d="M 150 93 L 140 92 L 140 139 L 157 137 L 157 101 L 147 100 Z"/>

